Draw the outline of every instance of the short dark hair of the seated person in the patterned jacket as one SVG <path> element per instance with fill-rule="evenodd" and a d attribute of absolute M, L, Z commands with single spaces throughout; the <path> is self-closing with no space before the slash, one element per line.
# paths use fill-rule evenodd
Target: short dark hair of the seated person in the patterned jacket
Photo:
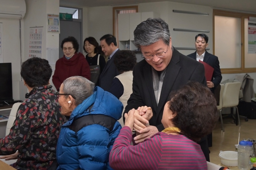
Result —
<path fill-rule="evenodd" d="M 46 86 L 52 75 L 52 68 L 46 59 L 33 57 L 21 65 L 20 75 L 29 87 Z"/>

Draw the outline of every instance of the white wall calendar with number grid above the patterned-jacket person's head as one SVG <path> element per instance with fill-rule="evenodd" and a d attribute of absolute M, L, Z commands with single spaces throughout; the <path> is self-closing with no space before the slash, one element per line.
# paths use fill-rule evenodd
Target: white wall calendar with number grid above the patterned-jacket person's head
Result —
<path fill-rule="evenodd" d="M 28 57 L 42 58 L 43 27 L 30 27 Z"/>

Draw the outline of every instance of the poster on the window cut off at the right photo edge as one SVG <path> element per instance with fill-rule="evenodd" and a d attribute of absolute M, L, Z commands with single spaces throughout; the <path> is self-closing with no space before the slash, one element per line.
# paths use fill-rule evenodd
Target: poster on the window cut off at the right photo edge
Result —
<path fill-rule="evenodd" d="M 256 54 L 256 17 L 248 18 L 248 54 Z"/>

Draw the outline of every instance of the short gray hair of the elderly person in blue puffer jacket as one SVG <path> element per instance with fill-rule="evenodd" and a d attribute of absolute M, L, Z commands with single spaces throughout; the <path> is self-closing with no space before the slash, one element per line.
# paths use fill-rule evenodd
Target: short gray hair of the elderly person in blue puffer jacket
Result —
<path fill-rule="evenodd" d="M 70 94 L 76 98 L 76 106 L 90 97 L 95 87 L 94 83 L 82 76 L 69 77 L 63 81 L 62 85 L 64 94 Z"/>

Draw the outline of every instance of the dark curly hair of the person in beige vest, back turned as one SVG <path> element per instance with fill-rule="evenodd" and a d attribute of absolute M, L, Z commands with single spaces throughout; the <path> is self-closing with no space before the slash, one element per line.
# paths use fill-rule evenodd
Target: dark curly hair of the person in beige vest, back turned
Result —
<path fill-rule="evenodd" d="M 137 62 L 137 58 L 134 52 L 131 50 L 120 50 L 116 52 L 114 58 L 114 64 L 120 73 L 124 71 L 130 71 L 133 69 Z"/>

